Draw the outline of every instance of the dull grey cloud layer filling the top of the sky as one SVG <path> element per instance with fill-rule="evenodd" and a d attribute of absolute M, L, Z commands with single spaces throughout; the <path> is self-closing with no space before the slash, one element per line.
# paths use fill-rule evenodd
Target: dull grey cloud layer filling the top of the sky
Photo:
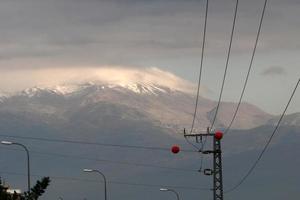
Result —
<path fill-rule="evenodd" d="M 176 62 L 183 56 L 198 60 L 204 2 L 1 0 L 1 57 L 17 59 L 59 54 L 61 61 L 72 58 L 74 63 L 88 60 L 125 62 L 122 63 L 125 65 L 162 59 Z M 206 46 L 209 56 L 225 55 L 234 3 L 226 0 L 210 4 Z M 252 48 L 262 3 L 262 0 L 241 1 L 234 54 L 247 53 Z M 296 38 L 300 22 L 295 17 L 298 10 L 294 8 L 297 1 L 287 0 L 282 4 L 280 0 L 273 0 L 269 4 L 259 50 L 299 49 L 300 42 Z M 289 23 L 282 23 L 287 20 Z"/>

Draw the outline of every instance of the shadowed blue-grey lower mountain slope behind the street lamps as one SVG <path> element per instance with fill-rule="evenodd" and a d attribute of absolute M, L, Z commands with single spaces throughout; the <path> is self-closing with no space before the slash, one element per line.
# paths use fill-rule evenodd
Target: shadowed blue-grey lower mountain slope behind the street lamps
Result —
<path fill-rule="evenodd" d="M 76 112 L 70 113 L 70 116 L 75 118 L 70 118 L 71 120 L 69 121 L 61 121 L 61 119 L 56 118 L 51 119 L 50 116 L 48 118 L 45 118 L 45 116 L 29 118 L 30 115 L 28 113 L 23 113 L 23 116 L 20 116 L 20 114 L 8 115 L 7 113 L 1 113 L 0 116 L 4 117 L 0 118 L 0 132 L 9 136 L 19 135 L 24 137 L 80 140 L 103 144 L 164 148 L 170 147 L 172 144 L 178 144 L 183 149 L 191 148 L 186 144 L 182 136 L 174 137 L 167 134 L 168 130 L 147 123 L 147 118 L 144 118 L 138 111 L 132 113 L 129 117 L 123 118 L 123 112 L 119 111 L 125 112 L 126 109 L 127 107 L 123 106 L 120 108 L 114 104 L 102 105 L 102 103 L 99 103 L 96 110 L 87 109 L 89 112 L 86 112 L 86 110 L 83 113 L 82 110 L 78 109 Z M 83 115 L 80 115 L 80 113 Z M 107 121 L 105 123 L 102 122 L 102 119 L 97 121 L 99 113 L 103 113 L 103 116 L 106 116 Z M 141 120 L 136 121 L 136 117 L 139 117 Z M 226 189 L 234 185 L 249 169 L 249 166 L 257 158 L 259 150 L 261 150 L 273 129 L 274 127 L 272 126 L 263 126 L 251 130 L 236 130 L 224 137 L 222 145 L 224 187 Z M 250 200 L 253 197 L 267 198 L 272 193 L 272 199 L 279 200 L 282 197 L 287 197 L 286 192 L 288 192 L 290 198 L 297 197 L 298 180 L 295 173 L 297 172 L 299 161 L 295 157 L 297 157 L 300 145 L 299 136 L 299 131 L 295 127 L 281 127 L 255 173 L 249 177 L 249 180 L 236 193 L 230 194 L 230 197 L 235 199 L 243 195 L 245 196 L 244 199 Z M 52 182 L 49 190 L 41 198 L 44 200 L 55 199 L 62 194 L 66 199 L 75 200 L 83 198 L 96 199 L 99 197 L 102 192 L 99 190 L 99 187 L 102 188 L 102 182 L 99 182 L 98 176 L 94 177 L 93 175 L 82 173 L 82 169 L 86 167 L 96 168 L 105 173 L 108 178 L 108 191 L 111 199 L 120 199 L 122 197 L 130 197 L 134 200 L 141 198 L 150 200 L 154 197 L 159 199 L 162 195 L 158 191 L 159 185 L 212 187 L 211 177 L 203 176 L 197 172 L 201 156 L 196 152 L 180 152 L 174 155 L 168 151 L 119 148 L 117 146 L 46 142 L 4 136 L 0 136 L 0 138 L 1 140 L 21 142 L 29 147 L 32 161 L 32 181 L 38 178 L 35 174 L 51 177 Z M 210 147 L 211 143 L 208 141 L 206 148 L 209 149 Z M 45 155 L 43 152 L 56 156 L 51 154 Z M 70 156 L 57 156 L 61 154 Z M 211 160 L 208 157 L 207 155 L 204 159 L 205 168 L 212 167 Z M 18 164 L 16 164 L 16 160 Z M 107 160 L 113 160 L 119 164 L 113 164 Z M 278 162 L 279 160 L 280 162 Z M 187 169 L 187 171 L 120 164 L 132 162 Z M 23 167 L 25 163 L 25 155 L 21 149 L 9 146 L 1 147 L 1 176 L 14 187 L 26 188 L 26 176 L 18 175 L 26 174 L 26 170 Z M 70 179 L 64 180 L 63 177 L 70 177 Z M 126 182 L 136 185 L 122 184 Z M 143 183 L 157 186 L 143 186 Z M 282 189 L 274 191 L 274 188 L 277 187 Z M 176 188 L 176 190 L 180 192 L 182 198 L 189 199 L 198 198 L 200 194 L 202 198 L 210 198 L 212 195 L 211 191 L 182 188 Z M 253 192 L 257 191 L 260 191 L 259 195 L 257 193 L 253 194 Z M 148 193 L 149 196 L 144 197 Z"/>

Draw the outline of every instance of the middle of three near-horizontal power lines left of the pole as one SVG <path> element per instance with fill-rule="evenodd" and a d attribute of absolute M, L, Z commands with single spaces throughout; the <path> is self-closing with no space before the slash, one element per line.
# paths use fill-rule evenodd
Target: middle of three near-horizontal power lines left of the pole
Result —
<path fill-rule="evenodd" d="M 0 147 L 0 148 L 3 149 L 3 147 Z M 7 149 L 7 148 L 5 148 L 5 149 Z M 19 149 L 7 149 L 7 150 L 22 151 Z M 143 164 L 143 163 L 126 162 L 126 161 L 113 161 L 113 160 L 107 160 L 107 159 L 89 158 L 89 157 L 84 157 L 84 156 L 66 155 L 66 154 L 58 154 L 58 153 L 32 151 L 32 150 L 30 150 L 30 153 L 40 154 L 40 155 L 48 155 L 48 156 L 53 156 L 53 157 L 74 158 L 74 159 L 80 159 L 80 160 L 92 160 L 92 161 L 112 163 L 112 164 L 118 164 L 118 165 L 159 168 L 159 169 L 167 169 L 167 170 L 182 171 L 182 172 L 197 172 L 197 170 L 192 170 L 192 169 L 158 166 L 158 165 L 152 165 L 152 164 Z"/>

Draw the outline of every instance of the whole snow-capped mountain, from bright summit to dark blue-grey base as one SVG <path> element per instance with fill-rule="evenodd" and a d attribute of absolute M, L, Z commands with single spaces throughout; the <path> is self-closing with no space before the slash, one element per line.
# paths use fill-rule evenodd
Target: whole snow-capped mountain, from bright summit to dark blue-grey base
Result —
<path fill-rule="evenodd" d="M 164 151 L 119 148 L 117 145 L 167 148 L 178 144 L 182 149 L 192 149 L 184 140 L 182 129 L 189 129 L 191 126 L 195 96 L 183 89 L 185 87 L 180 87 L 177 83 L 178 78 L 173 76 L 171 76 L 172 80 L 176 81 L 172 82 L 161 77 L 159 80 L 146 78 L 142 81 L 140 75 L 139 78 L 129 81 L 91 79 L 80 83 L 30 87 L 20 92 L 4 95 L 3 101 L 0 102 L 0 137 L 3 140 L 21 142 L 30 148 L 32 170 L 35 174 L 54 177 L 66 174 L 86 178 L 85 174 L 79 175 L 79 169 L 92 166 L 101 168 L 112 179 L 117 177 L 119 180 L 131 180 L 135 177 L 132 182 L 139 182 L 141 177 L 140 180 L 143 179 L 146 183 L 163 184 L 167 177 L 167 180 L 174 185 L 207 185 L 207 179 L 197 172 L 200 157 L 196 152 L 183 152 L 174 156 Z M 210 125 L 216 103 L 204 97 L 199 98 L 196 129 L 202 130 Z M 230 102 L 221 104 L 216 128 L 226 127 L 235 106 L 235 103 Z M 227 177 L 238 175 L 239 178 L 244 175 L 244 169 L 252 164 L 259 153 L 258 150 L 265 145 L 274 130 L 274 124 L 278 118 L 273 117 L 254 105 L 241 104 L 240 112 L 233 124 L 234 130 L 222 140 L 224 171 Z M 285 119 L 287 122 L 284 121 L 283 124 L 288 125 L 288 121 L 295 119 L 295 116 Z M 298 120 L 298 117 L 296 119 Z M 297 124 L 297 121 L 291 122 L 291 124 Z M 298 132 L 298 128 L 294 126 L 280 128 L 280 134 L 274 137 L 270 146 L 272 151 L 264 157 L 264 164 L 267 164 L 267 167 L 262 167 L 262 169 L 267 171 L 266 174 L 269 174 L 270 178 L 259 174 L 255 179 L 256 182 L 251 185 L 260 186 L 262 183 L 271 185 L 270 191 L 274 183 L 275 187 L 283 187 L 284 184 L 276 181 L 274 174 L 280 174 L 286 167 L 286 163 L 290 162 L 296 163 L 280 179 L 288 177 L 295 181 L 292 185 L 297 185 L 298 180 L 294 172 L 299 166 L 299 161 L 295 160 L 300 146 Z M 59 140 L 84 141 L 91 145 L 58 142 Z M 104 145 L 92 145 L 92 143 Z M 112 146 L 105 144 L 112 144 Z M 210 148 L 210 145 L 208 141 L 207 148 Z M 5 175 L 3 173 L 5 171 L 22 170 L 20 165 L 15 165 L 15 161 L 24 159 L 24 153 L 12 150 L 1 149 L 2 175 Z M 70 156 L 55 156 L 60 154 Z M 281 155 L 283 160 L 279 164 L 278 155 Z M 75 159 L 75 156 L 83 159 Z M 134 161 L 151 163 L 152 166 L 166 165 L 171 168 L 176 166 L 178 169 L 193 170 L 189 173 L 185 170 L 116 165 L 107 160 L 117 161 L 119 164 Z M 204 166 L 210 167 L 211 162 L 208 161 L 209 159 L 206 160 Z M 172 174 L 172 171 L 176 173 Z M 180 176 L 182 178 L 179 179 Z M 200 176 L 202 178 L 199 178 Z M 228 181 L 226 185 L 233 185 L 236 181 L 234 178 L 225 180 Z M 23 179 L 20 179 L 20 182 L 23 183 Z M 55 184 L 59 184 L 59 181 L 54 179 L 52 185 Z M 76 191 L 90 188 L 90 185 L 80 183 L 74 186 L 74 184 L 63 182 L 58 188 L 62 189 L 64 194 L 73 194 L 74 188 Z M 111 190 L 116 189 L 113 187 L 110 183 Z M 129 190 L 124 185 L 118 189 L 123 190 L 124 193 Z M 55 195 L 60 195 L 62 190 Z M 157 189 L 154 188 L 154 190 Z M 134 189 L 135 192 L 136 189 Z M 196 193 L 198 195 L 198 191 Z M 76 199 L 78 197 L 76 195 L 70 199 Z M 143 195 L 144 192 L 141 197 Z M 206 197 L 208 198 L 208 195 Z"/>

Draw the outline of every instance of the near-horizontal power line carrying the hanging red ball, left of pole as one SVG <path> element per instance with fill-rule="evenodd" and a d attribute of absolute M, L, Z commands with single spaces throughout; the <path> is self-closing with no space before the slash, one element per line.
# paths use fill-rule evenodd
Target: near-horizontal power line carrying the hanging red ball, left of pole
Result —
<path fill-rule="evenodd" d="M 109 143 L 99 143 L 99 142 L 86 142 L 86 141 L 65 140 L 65 139 L 50 139 L 50 138 L 42 138 L 42 137 L 29 137 L 29 136 L 5 135 L 5 134 L 0 134 L 0 137 L 15 138 L 15 139 L 24 139 L 24 140 L 37 140 L 37 141 L 54 142 L 54 143 L 70 143 L 70 144 L 107 146 L 107 147 L 128 148 L 128 149 L 170 151 L 169 148 L 165 148 L 165 147 L 137 146 L 137 145 L 124 145 L 124 144 L 109 144 Z M 196 152 L 194 150 L 188 150 L 188 149 L 182 149 L 181 151 L 182 152 L 186 152 L 186 153 Z"/>

